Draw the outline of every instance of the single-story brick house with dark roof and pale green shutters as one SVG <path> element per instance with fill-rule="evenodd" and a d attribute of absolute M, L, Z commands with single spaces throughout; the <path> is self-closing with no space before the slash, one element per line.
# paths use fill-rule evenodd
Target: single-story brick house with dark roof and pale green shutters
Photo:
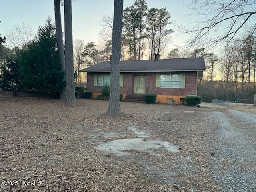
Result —
<path fill-rule="evenodd" d="M 180 103 L 180 98 L 197 94 L 197 80 L 205 70 L 204 58 L 121 61 L 120 94 L 132 100 L 142 94 L 154 93 L 156 102 Z M 110 62 L 90 66 L 87 72 L 87 90 L 92 98 L 101 94 L 104 84 L 110 85 Z"/>

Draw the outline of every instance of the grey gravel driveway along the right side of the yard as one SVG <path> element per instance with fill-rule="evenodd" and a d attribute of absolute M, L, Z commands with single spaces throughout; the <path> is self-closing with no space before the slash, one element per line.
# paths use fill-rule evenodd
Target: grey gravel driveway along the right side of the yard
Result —
<path fill-rule="evenodd" d="M 256 191 L 256 114 L 215 108 L 213 150 L 209 171 L 223 192 Z"/>

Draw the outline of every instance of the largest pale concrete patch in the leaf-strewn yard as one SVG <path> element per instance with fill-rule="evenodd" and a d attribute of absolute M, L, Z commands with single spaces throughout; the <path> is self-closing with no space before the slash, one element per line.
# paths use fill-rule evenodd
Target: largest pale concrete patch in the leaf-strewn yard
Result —
<path fill-rule="evenodd" d="M 124 150 L 138 150 L 142 152 L 150 151 L 150 148 L 165 148 L 169 152 L 179 152 L 177 145 L 172 145 L 168 141 L 160 140 L 143 140 L 142 138 L 118 139 L 107 143 L 99 144 L 96 149 L 104 152 L 111 152 L 117 155 L 122 155 Z M 153 154 L 154 152 L 152 152 Z"/>

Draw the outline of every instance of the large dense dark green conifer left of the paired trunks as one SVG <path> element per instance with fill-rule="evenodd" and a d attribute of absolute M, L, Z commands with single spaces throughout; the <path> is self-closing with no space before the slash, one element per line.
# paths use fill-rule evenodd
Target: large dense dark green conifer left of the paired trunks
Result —
<path fill-rule="evenodd" d="M 57 54 L 55 26 L 51 18 L 39 27 L 38 39 L 22 53 L 19 66 L 20 82 L 25 90 L 33 90 L 41 96 L 58 97 L 64 86 L 64 73 Z"/>

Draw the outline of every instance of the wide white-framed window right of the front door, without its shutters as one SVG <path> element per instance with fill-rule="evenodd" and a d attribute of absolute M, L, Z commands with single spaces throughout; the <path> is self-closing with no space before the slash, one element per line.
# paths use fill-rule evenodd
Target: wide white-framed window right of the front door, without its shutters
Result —
<path fill-rule="evenodd" d="M 160 75 L 160 87 L 179 88 L 181 87 L 181 74 Z"/>

